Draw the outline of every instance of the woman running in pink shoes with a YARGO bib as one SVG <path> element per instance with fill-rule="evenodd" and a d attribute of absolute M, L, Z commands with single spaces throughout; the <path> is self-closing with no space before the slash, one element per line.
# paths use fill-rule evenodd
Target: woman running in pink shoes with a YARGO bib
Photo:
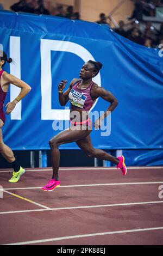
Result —
<path fill-rule="evenodd" d="M 71 102 L 71 127 L 70 129 L 60 132 L 49 141 L 53 176 L 52 179 L 48 181 L 47 185 L 42 187 L 42 190 L 52 191 L 54 188 L 60 186 L 58 176 L 60 151 L 58 147 L 61 144 L 70 142 L 76 142 L 78 147 L 82 149 L 87 156 L 113 162 L 116 164 L 117 168 L 122 170 L 123 175 L 127 174 L 124 156 L 114 157 L 104 150 L 93 148 L 91 143 L 90 133 L 92 124 L 89 118 L 89 111 L 93 106 L 93 103 L 95 103 L 98 97 L 102 97 L 105 101 L 110 102 L 110 106 L 105 113 L 95 121 L 94 126 L 96 128 L 101 127 L 103 119 L 110 114 L 118 104 L 114 95 L 104 88 L 98 87 L 98 85 L 92 81 L 92 78 L 98 74 L 101 68 L 102 64 L 100 62 L 89 60 L 89 62 L 85 63 L 80 70 L 80 79 L 74 78 L 65 93 L 63 93 L 63 89 L 65 88 L 67 81 L 62 80 L 59 83 L 60 105 L 66 105 L 68 99 L 70 99 Z M 74 115 L 76 116 L 76 121 L 72 121 L 74 120 Z"/>

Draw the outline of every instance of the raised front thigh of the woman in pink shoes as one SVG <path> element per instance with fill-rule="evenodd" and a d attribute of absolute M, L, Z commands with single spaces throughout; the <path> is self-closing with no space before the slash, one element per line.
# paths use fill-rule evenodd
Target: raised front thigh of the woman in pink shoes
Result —
<path fill-rule="evenodd" d="M 54 136 L 50 142 L 57 143 L 58 145 L 77 142 L 80 139 L 87 137 L 91 131 L 82 131 L 82 130 L 71 130 L 67 129 L 58 133 L 58 135 Z"/>

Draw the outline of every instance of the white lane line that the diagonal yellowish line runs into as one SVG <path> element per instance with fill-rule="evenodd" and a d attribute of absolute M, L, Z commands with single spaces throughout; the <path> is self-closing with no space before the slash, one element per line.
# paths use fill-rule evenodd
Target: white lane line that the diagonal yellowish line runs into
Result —
<path fill-rule="evenodd" d="M 161 203 L 163 203 L 163 201 L 123 203 L 123 204 L 87 205 L 87 206 L 73 206 L 73 207 L 50 208 L 50 209 L 22 210 L 22 211 L 2 211 L 2 212 L 0 212 L 0 215 L 1 214 L 18 214 L 18 213 L 23 213 L 23 212 L 36 212 L 36 211 L 87 209 L 87 208 L 101 208 L 101 207 L 111 207 L 111 206 L 129 206 L 129 205 L 161 204 Z"/>

